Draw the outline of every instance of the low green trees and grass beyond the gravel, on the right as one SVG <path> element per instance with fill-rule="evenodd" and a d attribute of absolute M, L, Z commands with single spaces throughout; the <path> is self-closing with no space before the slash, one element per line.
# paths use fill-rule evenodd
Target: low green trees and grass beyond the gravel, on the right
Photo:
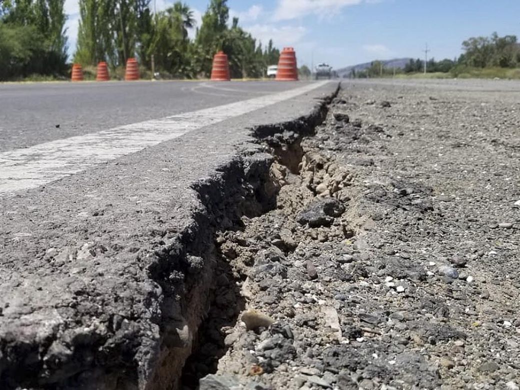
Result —
<path fill-rule="evenodd" d="M 520 44 L 516 35 L 499 36 L 495 32 L 489 37 L 472 37 L 462 43 L 462 49 L 464 53 L 453 60 L 428 60 L 426 74 L 424 60 L 418 58 L 411 59 L 404 69 L 385 68 L 383 62 L 374 61 L 366 70 L 353 70 L 350 77 L 520 79 Z"/>

